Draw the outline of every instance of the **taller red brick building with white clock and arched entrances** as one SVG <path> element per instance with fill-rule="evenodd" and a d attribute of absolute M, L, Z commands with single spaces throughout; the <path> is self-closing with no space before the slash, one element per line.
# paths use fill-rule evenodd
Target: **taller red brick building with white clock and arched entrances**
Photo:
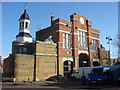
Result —
<path fill-rule="evenodd" d="M 36 40 L 45 41 L 51 37 L 57 44 L 59 73 L 63 73 L 62 67 L 67 61 L 75 68 L 82 66 L 82 61 L 87 61 L 85 66 L 99 62 L 99 35 L 99 30 L 92 28 L 87 17 L 74 13 L 70 21 L 60 18 L 54 20 L 54 16 L 51 16 L 51 26 L 37 31 Z"/>

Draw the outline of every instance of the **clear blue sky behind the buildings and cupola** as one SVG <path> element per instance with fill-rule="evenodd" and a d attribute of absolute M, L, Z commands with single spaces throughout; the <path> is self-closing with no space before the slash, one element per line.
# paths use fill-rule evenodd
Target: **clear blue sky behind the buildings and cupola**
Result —
<path fill-rule="evenodd" d="M 2 56 L 12 52 L 12 41 L 19 33 L 19 18 L 24 12 L 24 2 L 2 3 Z M 41 27 L 50 26 L 50 16 L 70 21 L 70 15 L 79 13 L 92 21 L 92 28 L 100 31 L 100 43 L 108 50 L 106 36 L 110 36 L 111 55 L 115 57 L 113 41 L 118 34 L 117 2 L 27 2 L 27 13 L 31 19 L 30 31 L 33 38 Z"/>

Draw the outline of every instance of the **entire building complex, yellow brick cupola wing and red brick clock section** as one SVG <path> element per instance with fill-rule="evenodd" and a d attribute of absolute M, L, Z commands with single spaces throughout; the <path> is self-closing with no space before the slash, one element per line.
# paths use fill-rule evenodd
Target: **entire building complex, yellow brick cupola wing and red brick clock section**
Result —
<path fill-rule="evenodd" d="M 30 35 L 30 18 L 26 10 L 19 19 L 19 33 L 12 42 L 12 54 L 4 61 L 4 77 L 16 81 L 45 80 L 67 75 L 73 68 L 99 63 L 99 30 L 92 28 L 87 17 L 74 13 L 70 21 L 54 20 L 51 26 Z"/>

